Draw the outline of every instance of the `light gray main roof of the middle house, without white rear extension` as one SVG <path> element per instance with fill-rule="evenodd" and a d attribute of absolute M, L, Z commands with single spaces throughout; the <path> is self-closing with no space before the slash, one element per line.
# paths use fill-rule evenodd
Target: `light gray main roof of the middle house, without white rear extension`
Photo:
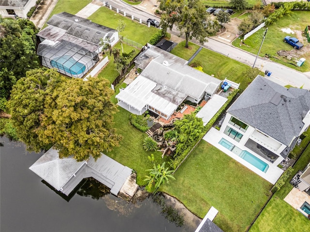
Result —
<path fill-rule="evenodd" d="M 215 91 L 221 83 L 221 80 L 186 65 L 185 59 L 155 46 L 147 49 L 135 62 L 146 66 L 141 73 L 144 77 L 195 99 L 201 98 L 208 87 Z"/>

